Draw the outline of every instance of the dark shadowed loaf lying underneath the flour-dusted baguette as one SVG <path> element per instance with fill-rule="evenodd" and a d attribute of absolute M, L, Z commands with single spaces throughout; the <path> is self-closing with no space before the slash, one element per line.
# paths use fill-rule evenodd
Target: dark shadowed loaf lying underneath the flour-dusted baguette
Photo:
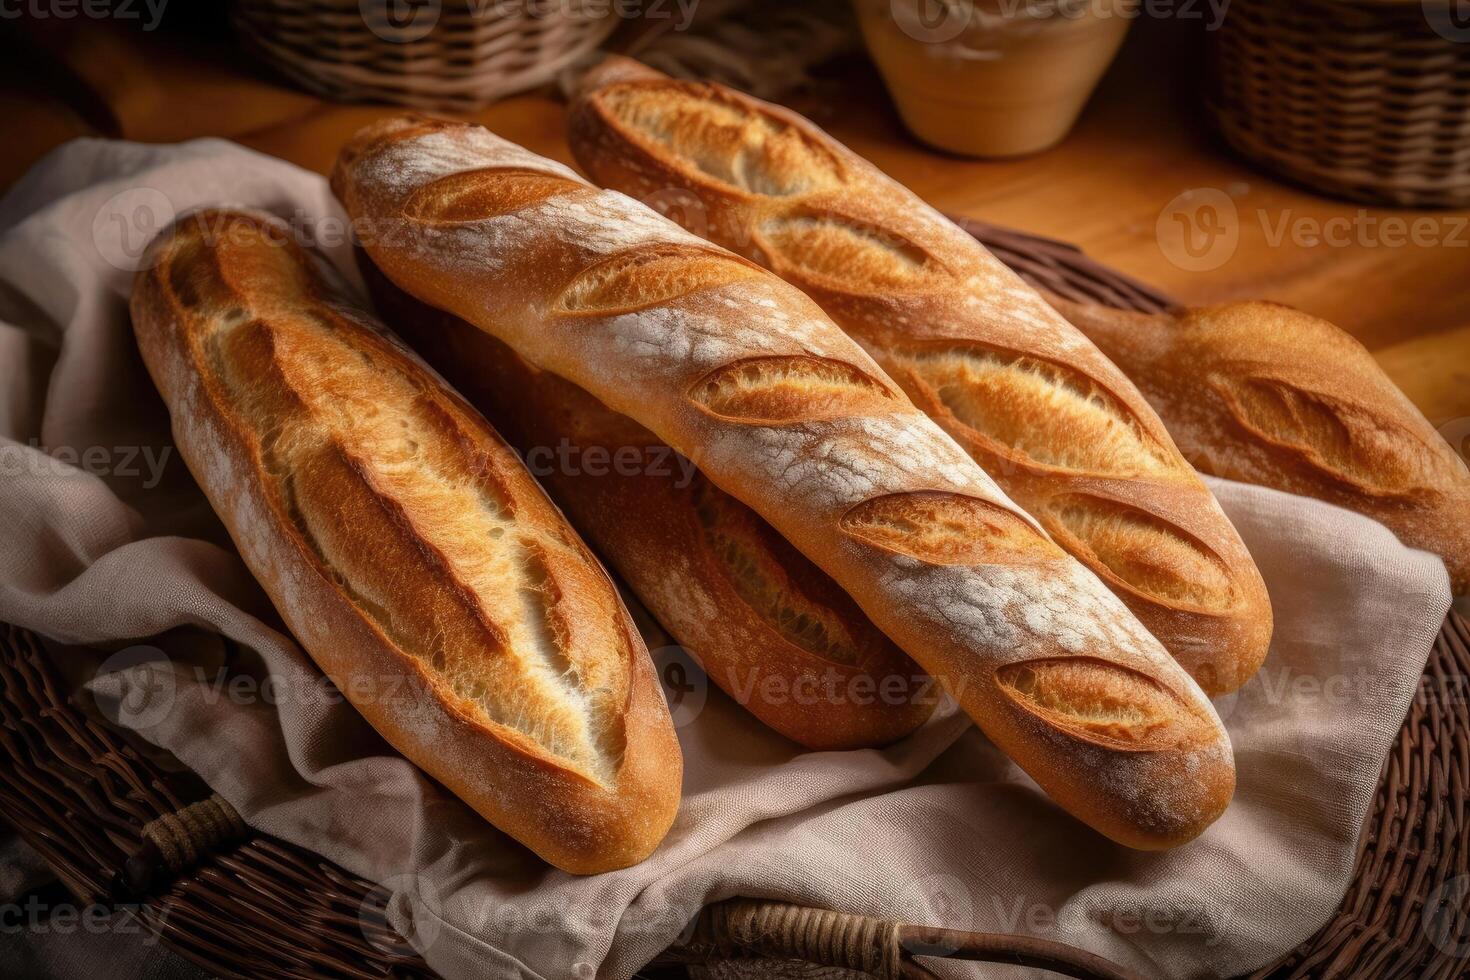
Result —
<path fill-rule="evenodd" d="M 365 253 L 384 319 L 531 472 L 722 691 L 813 749 L 885 745 L 939 699 L 832 579 L 645 428 L 419 303 Z"/>

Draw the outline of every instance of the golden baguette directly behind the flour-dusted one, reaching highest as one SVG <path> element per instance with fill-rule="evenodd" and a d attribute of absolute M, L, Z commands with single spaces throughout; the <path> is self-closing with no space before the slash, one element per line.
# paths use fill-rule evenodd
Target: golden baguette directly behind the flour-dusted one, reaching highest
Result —
<path fill-rule="evenodd" d="M 567 118 L 601 184 L 814 298 L 1208 693 L 1266 657 L 1255 564 L 1148 403 L 980 244 L 801 116 L 612 57 Z"/>

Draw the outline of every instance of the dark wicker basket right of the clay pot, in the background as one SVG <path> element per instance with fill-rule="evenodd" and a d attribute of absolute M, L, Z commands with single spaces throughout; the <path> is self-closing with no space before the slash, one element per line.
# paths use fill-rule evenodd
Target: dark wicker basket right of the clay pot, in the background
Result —
<path fill-rule="evenodd" d="M 1470 21 L 1457 0 L 1233 0 L 1208 107 L 1235 150 L 1310 190 L 1470 206 Z"/>

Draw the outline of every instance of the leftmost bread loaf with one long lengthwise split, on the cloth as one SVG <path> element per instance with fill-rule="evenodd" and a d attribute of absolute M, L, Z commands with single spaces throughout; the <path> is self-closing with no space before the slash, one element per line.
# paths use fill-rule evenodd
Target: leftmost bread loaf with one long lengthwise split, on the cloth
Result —
<path fill-rule="evenodd" d="M 132 292 L 190 470 L 322 670 L 569 871 L 644 858 L 681 757 L 607 573 L 482 417 L 284 223 L 201 212 Z"/>

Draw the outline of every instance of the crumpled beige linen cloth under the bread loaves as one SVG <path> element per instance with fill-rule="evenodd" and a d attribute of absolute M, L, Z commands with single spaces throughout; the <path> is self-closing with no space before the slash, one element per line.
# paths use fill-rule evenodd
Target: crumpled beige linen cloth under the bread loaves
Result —
<path fill-rule="evenodd" d="M 1336 908 L 1448 579 L 1373 522 L 1225 482 L 1276 641 L 1220 702 L 1239 788 L 1200 840 L 1110 843 L 948 708 L 883 751 L 804 752 L 695 689 L 676 711 L 684 805 L 667 840 L 614 874 L 545 867 L 320 683 L 171 448 L 128 325 L 129 264 L 172 213 L 226 203 L 273 210 L 350 264 L 319 176 L 220 141 L 71 143 L 0 201 L 0 620 L 59 641 L 82 696 L 251 826 L 382 883 L 447 977 L 629 977 L 736 895 L 1025 932 L 1169 977 L 1257 967 Z M 84 644 L 112 651 L 106 670 Z"/>

